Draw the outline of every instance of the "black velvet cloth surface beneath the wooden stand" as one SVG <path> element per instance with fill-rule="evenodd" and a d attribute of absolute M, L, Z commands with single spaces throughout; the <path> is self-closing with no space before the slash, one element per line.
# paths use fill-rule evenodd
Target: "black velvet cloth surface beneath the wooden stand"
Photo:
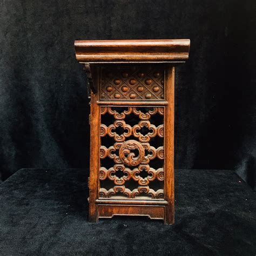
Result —
<path fill-rule="evenodd" d="M 255 192 L 232 171 L 176 170 L 176 222 L 87 221 L 85 169 L 22 169 L 0 185 L 1 255 L 255 255 Z"/>

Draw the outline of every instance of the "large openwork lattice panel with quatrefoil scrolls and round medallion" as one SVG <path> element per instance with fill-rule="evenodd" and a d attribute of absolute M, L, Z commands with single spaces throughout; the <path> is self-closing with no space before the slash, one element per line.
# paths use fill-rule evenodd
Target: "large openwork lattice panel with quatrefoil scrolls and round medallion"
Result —
<path fill-rule="evenodd" d="M 100 107 L 99 198 L 164 199 L 164 107 Z"/>

